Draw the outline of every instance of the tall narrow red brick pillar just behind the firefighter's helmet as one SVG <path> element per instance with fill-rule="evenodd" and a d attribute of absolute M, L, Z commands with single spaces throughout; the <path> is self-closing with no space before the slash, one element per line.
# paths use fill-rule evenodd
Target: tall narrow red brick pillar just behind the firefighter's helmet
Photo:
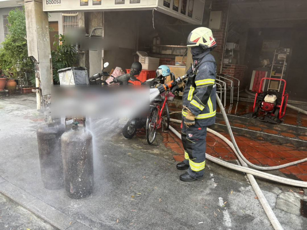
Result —
<path fill-rule="evenodd" d="M 212 11 L 222 11 L 222 21 L 220 29 L 212 30 L 213 37 L 216 39 L 217 47 L 214 51 L 220 53 L 220 61 L 222 63 L 222 56 L 224 51 L 224 40 L 226 33 L 227 13 L 228 13 L 229 0 L 214 0 L 212 1 Z M 220 64 L 217 67 L 217 72 L 220 72 Z"/>

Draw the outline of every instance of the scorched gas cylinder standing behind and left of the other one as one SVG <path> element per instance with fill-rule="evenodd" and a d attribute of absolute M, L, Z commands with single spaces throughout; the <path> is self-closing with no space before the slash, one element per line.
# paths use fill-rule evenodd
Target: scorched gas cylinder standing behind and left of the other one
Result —
<path fill-rule="evenodd" d="M 41 179 L 49 190 L 63 188 L 63 165 L 60 138 L 65 125 L 60 121 L 42 124 L 37 129 L 38 155 L 41 166 Z"/>

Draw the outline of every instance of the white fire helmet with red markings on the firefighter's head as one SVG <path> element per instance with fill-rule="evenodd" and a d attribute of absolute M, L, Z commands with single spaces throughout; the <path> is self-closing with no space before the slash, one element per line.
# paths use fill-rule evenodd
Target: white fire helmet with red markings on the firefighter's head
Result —
<path fill-rule="evenodd" d="M 216 44 L 211 29 L 198 27 L 193 29 L 188 36 L 187 47 L 200 46 L 204 49 L 211 48 Z"/>

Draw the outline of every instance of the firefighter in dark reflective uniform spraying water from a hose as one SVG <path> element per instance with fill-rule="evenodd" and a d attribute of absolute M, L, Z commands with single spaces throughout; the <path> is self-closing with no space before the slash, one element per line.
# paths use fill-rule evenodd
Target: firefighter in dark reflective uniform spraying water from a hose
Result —
<path fill-rule="evenodd" d="M 207 126 L 215 123 L 216 62 L 210 52 L 216 47 L 212 31 L 205 27 L 194 29 L 188 36 L 194 65 L 183 93 L 181 138 L 185 160 L 177 169 L 187 171 L 180 180 L 191 182 L 204 176 Z"/>

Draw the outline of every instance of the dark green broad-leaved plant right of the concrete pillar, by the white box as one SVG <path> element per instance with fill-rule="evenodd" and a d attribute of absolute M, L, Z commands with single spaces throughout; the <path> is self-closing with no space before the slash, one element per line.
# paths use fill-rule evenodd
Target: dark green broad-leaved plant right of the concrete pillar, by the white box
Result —
<path fill-rule="evenodd" d="M 79 60 L 76 48 L 65 43 L 65 36 L 61 34 L 55 36 L 59 39 L 59 42 L 54 42 L 53 45 L 56 47 L 56 50 L 51 52 L 52 72 L 53 80 L 59 83 L 57 71 L 67 67 L 78 67 Z"/>

